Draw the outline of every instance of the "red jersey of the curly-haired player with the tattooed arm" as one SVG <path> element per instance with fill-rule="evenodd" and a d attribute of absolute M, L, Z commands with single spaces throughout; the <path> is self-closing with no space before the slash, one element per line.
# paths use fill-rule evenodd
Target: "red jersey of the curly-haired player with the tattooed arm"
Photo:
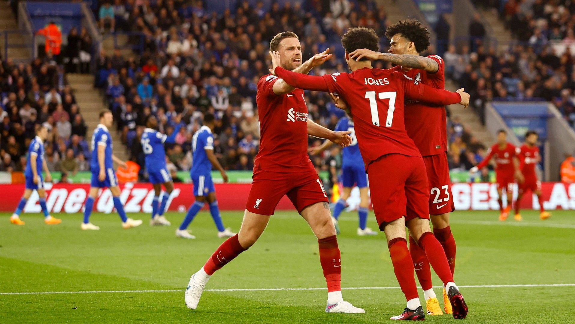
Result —
<path fill-rule="evenodd" d="M 444 64 L 438 55 L 427 56 L 437 62 L 435 73 L 420 69 L 403 71 L 398 65 L 391 71 L 402 72 L 414 82 L 421 82 L 436 89 L 445 88 Z M 445 106 L 427 103 L 424 100 L 406 98 L 404 102 L 405 130 L 423 156 L 442 154 L 447 151 L 447 115 Z"/>

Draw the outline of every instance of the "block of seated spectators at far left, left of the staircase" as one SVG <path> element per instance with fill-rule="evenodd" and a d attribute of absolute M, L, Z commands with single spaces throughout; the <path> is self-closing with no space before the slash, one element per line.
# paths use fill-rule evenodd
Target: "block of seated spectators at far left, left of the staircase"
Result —
<path fill-rule="evenodd" d="M 36 125 L 50 131 L 45 145 L 51 171 L 89 169 L 86 125 L 63 68 L 52 57 L 30 64 L 0 61 L 0 171 L 24 171 Z"/>

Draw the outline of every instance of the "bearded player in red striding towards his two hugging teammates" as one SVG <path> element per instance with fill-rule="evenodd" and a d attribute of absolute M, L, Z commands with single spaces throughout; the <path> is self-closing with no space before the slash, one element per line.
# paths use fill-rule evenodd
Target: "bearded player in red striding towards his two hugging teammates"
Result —
<path fill-rule="evenodd" d="M 331 58 L 325 51 L 301 63 L 301 45 L 293 32 L 277 34 L 271 51 L 282 54 L 281 66 L 294 72 L 309 70 Z M 332 132 L 308 119 L 304 91 L 277 76 L 264 75 L 258 82 L 256 103 L 260 122 L 260 149 L 254 161 L 253 183 L 240 232 L 229 238 L 190 278 L 186 305 L 196 309 L 205 284 L 214 272 L 254 245 L 284 196 L 292 200 L 308 222 L 319 244 L 321 268 L 328 288 L 328 313 L 365 313 L 342 298 L 341 256 L 327 194 L 308 156 L 308 134 L 341 146 L 351 144 L 350 132 Z"/>

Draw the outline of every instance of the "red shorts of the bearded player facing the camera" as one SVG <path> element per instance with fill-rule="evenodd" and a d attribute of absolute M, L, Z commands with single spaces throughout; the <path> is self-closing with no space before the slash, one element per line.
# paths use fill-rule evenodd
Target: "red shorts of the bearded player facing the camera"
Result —
<path fill-rule="evenodd" d="M 327 194 L 317 172 L 313 168 L 293 173 L 259 170 L 246 202 L 246 209 L 260 215 L 273 215 L 275 206 L 283 195 L 292 200 L 297 212 L 318 202 L 327 202 Z"/>

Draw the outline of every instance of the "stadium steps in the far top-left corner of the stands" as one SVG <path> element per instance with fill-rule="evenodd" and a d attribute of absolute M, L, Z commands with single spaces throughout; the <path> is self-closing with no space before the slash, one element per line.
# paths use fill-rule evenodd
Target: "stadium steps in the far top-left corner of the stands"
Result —
<path fill-rule="evenodd" d="M 4 30 L 18 30 L 18 24 L 16 23 L 16 18 L 14 17 L 14 13 L 12 12 L 9 1 L 0 2 L 0 32 L 3 32 Z M 0 56 L 2 59 L 6 59 L 6 57 L 4 57 L 4 37 L 5 34 L 2 33 L 0 36 L 0 48 L 2 49 Z M 22 44 L 22 34 L 9 33 L 8 42 L 10 44 Z M 8 47 L 8 57 L 16 63 L 29 63 L 31 59 L 30 54 L 31 53 L 29 48 Z"/>

